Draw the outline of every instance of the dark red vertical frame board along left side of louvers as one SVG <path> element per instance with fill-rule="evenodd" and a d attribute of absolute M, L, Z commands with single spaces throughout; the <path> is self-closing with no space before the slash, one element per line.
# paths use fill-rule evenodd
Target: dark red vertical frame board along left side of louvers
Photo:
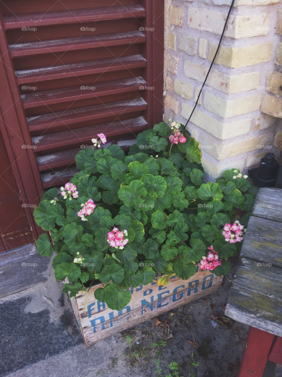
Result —
<path fill-rule="evenodd" d="M 42 233 L 33 219 L 34 205 L 39 204 L 43 186 L 21 103 L 9 47 L 0 15 L 0 132 L 13 170 L 18 192 L 29 222 L 33 239 Z"/>

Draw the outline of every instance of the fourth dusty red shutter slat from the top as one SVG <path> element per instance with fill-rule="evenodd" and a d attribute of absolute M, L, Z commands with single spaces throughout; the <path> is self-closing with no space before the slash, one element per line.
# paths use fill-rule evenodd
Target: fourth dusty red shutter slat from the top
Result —
<path fill-rule="evenodd" d="M 32 92 L 21 95 L 21 98 L 24 108 L 30 109 L 32 107 L 42 106 L 42 104 L 51 105 L 83 100 L 86 98 L 132 92 L 134 90 L 143 90 L 140 88 L 144 88 L 145 85 L 146 81 L 142 77 L 133 77 L 63 89 L 46 90 L 43 92 Z"/>

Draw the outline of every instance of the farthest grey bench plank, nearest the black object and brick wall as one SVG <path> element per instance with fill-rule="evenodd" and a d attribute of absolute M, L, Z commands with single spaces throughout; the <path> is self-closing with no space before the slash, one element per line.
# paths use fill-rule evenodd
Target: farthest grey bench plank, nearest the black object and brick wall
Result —
<path fill-rule="evenodd" d="M 253 207 L 253 215 L 270 219 L 273 221 L 282 221 L 282 192 L 281 189 L 274 187 L 262 187 L 256 196 Z"/>

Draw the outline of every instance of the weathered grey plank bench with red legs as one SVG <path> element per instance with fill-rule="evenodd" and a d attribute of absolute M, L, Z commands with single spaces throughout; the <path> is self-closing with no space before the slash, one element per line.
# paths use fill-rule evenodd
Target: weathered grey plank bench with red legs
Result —
<path fill-rule="evenodd" d="M 259 189 L 225 313 L 250 326 L 238 377 L 282 364 L 282 190 Z"/>

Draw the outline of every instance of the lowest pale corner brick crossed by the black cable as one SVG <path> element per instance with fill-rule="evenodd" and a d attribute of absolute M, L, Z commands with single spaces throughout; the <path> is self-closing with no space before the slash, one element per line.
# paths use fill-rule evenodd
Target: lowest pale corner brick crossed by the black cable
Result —
<path fill-rule="evenodd" d="M 192 110 L 192 106 L 182 103 L 181 115 L 183 118 L 188 119 Z M 226 123 L 220 122 L 212 118 L 212 116 L 196 109 L 191 117 L 191 123 L 195 124 L 216 138 L 225 140 L 248 133 L 251 128 L 252 118 Z"/>

